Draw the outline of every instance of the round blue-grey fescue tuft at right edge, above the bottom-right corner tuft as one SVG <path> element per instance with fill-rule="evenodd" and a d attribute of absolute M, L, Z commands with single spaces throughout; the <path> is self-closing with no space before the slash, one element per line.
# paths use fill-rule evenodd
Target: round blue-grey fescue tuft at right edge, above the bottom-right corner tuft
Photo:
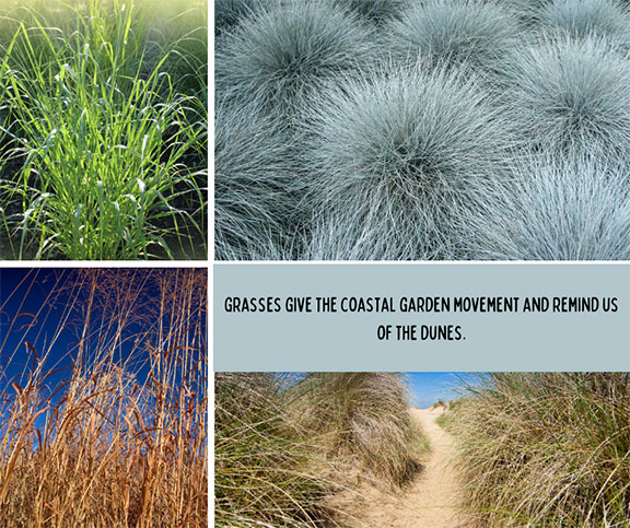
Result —
<path fill-rule="evenodd" d="M 605 40 L 547 40 L 504 63 L 510 117 L 532 145 L 630 150 L 630 60 Z"/>

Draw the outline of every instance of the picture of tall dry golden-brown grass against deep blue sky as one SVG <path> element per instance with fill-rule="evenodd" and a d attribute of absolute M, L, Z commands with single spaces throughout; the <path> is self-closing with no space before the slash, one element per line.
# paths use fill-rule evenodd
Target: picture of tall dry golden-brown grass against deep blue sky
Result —
<path fill-rule="evenodd" d="M 0 524 L 207 526 L 206 273 L 35 274 L 0 343 Z"/>

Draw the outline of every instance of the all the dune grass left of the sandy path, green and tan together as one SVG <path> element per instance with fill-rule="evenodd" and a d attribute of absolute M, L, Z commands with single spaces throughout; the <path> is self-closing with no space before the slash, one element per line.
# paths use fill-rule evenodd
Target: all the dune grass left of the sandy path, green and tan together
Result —
<path fill-rule="evenodd" d="M 398 488 L 421 457 L 395 374 L 219 373 L 214 415 L 217 526 L 343 526 L 349 474 Z"/>

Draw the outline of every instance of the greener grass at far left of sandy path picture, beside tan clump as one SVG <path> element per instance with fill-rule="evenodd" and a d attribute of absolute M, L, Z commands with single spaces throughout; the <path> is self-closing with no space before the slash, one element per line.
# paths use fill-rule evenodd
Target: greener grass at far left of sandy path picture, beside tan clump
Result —
<path fill-rule="evenodd" d="M 288 420 L 273 374 L 218 373 L 214 400 L 215 526 L 320 526 L 330 483 L 317 451 Z"/>

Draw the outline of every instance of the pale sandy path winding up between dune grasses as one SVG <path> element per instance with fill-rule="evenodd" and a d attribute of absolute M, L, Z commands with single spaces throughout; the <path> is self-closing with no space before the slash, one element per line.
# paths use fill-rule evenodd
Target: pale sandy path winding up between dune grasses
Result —
<path fill-rule="evenodd" d="M 411 410 L 431 442 L 429 459 L 417 480 L 404 492 L 374 492 L 362 508 L 357 526 L 383 528 L 458 528 L 470 523 L 457 508 L 458 481 L 450 466 L 453 441 L 435 419 L 442 409 Z"/>

